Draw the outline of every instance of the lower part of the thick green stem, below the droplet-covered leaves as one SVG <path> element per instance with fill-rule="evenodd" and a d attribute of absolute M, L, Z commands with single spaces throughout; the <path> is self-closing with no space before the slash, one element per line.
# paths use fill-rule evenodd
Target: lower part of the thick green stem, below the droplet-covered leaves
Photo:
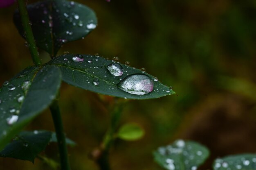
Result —
<path fill-rule="evenodd" d="M 61 112 L 58 106 L 58 101 L 56 99 L 50 106 L 50 110 L 52 112 L 52 119 L 54 122 L 56 137 L 58 140 L 58 149 L 61 159 L 61 170 L 71 170 L 70 163 L 67 157 L 67 145 L 65 140 L 65 133 L 63 130 L 63 123 L 61 120 Z"/>

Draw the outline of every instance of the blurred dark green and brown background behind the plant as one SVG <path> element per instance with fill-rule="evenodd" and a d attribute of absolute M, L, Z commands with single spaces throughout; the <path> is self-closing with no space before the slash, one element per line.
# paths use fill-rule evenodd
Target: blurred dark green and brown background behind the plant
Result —
<path fill-rule="evenodd" d="M 32 3 L 35 1 L 30 1 Z M 146 68 L 173 86 L 177 96 L 126 102 L 121 124 L 137 122 L 146 135 L 117 140 L 110 152 L 112 170 L 161 170 L 152 151 L 175 139 L 200 142 L 213 159 L 256 153 L 256 1 L 255 0 L 78 0 L 94 9 L 98 27 L 85 39 L 65 44 L 59 54 L 119 57 Z M 16 4 L 0 9 L 0 83 L 31 65 L 29 50 L 12 15 Z M 44 62 L 49 55 L 40 51 Z M 88 158 L 110 123 L 114 98 L 62 84 L 60 106 L 72 170 L 97 170 Z M 27 130 L 54 131 L 49 110 Z M 56 144 L 43 155 L 58 160 Z M 2 167 L 1 167 L 2 165 Z M 43 161 L 0 158 L 3 170 L 48 170 Z"/>

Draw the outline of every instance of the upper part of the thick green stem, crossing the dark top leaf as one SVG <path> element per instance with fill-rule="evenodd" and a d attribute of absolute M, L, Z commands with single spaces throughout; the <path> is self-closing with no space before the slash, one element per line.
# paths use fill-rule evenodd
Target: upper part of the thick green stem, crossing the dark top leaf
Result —
<path fill-rule="evenodd" d="M 30 51 L 31 57 L 33 59 L 33 63 L 35 65 L 41 65 L 42 63 L 39 58 L 38 50 L 37 50 L 36 43 L 34 40 L 34 35 L 32 32 L 31 26 L 29 24 L 29 15 L 27 13 L 27 7 L 23 0 L 18 0 L 18 8 L 20 11 L 20 19 L 21 19 L 24 34 L 25 34 L 25 37 L 27 40 L 27 44 L 29 47 L 29 51 Z"/>

